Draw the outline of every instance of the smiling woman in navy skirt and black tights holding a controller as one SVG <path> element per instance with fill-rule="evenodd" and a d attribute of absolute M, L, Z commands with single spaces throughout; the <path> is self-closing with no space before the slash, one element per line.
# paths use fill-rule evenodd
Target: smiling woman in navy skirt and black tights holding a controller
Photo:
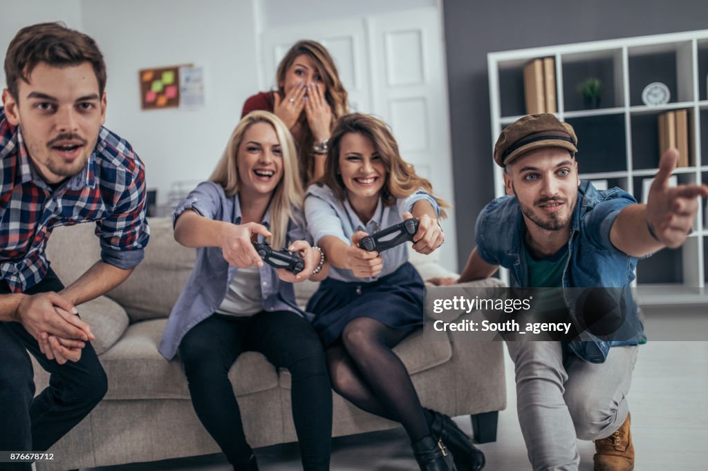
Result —
<path fill-rule="evenodd" d="M 361 409 L 399 421 L 421 470 L 451 470 L 442 436 L 462 470 L 480 470 L 484 455 L 449 417 L 423 409 L 392 348 L 423 325 L 424 284 L 408 248 L 382 253 L 358 248 L 372 233 L 414 217 L 413 249 L 442 245 L 438 217 L 447 204 L 403 161 L 387 125 L 354 113 L 341 117 L 330 139 L 324 178 L 305 197 L 308 230 L 331 264 L 307 310 L 327 354 L 334 390 Z M 459 462 L 459 464 L 458 464 Z"/>

